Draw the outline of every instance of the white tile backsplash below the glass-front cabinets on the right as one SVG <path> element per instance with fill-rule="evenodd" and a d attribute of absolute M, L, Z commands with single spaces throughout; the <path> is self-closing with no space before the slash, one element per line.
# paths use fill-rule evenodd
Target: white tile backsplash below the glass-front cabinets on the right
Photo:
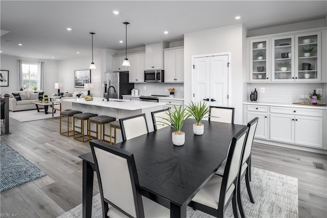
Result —
<path fill-rule="evenodd" d="M 258 101 L 271 102 L 298 102 L 300 94 L 313 93 L 313 90 L 322 90 L 322 100 L 319 103 L 326 102 L 326 84 L 327 83 L 247 83 L 247 101 L 250 101 L 250 94 L 254 89 L 258 92 Z M 261 88 L 265 92 L 261 92 Z"/>

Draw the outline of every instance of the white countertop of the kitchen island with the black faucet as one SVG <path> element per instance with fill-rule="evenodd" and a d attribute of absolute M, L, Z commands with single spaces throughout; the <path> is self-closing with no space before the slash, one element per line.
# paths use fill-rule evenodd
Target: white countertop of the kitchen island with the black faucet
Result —
<path fill-rule="evenodd" d="M 128 111 L 135 111 L 135 110 L 141 110 L 144 108 L 166 105 L 166 103 L 149 102 L 149 101 L 129 101 L 129 100 L 123 100 L 123 99 L 114 99 L 114 98 L 109 99 L 109 100 L 121 101 L 121 102 L 116 102 L 116 101 L 106 101 L 106 99 L 104 101 L 102 101 L 102 99 L 104 99 L 104 98 L 93 97 L 92 101 L 85 101 L 84 98 L 71 98 L 71 99 L 62 99 L 62 101 L 94 105 L 94 106 L 101 106 L 101 107 L 110 107 L 110 108 L 116 108 L 116 109 L 128 110 Z"/>

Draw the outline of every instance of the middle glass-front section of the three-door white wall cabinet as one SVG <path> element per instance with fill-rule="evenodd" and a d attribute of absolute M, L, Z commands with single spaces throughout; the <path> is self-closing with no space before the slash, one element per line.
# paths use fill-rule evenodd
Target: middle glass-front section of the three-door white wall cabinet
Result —
<path fill-rule="evenodd" d="M 294 36 L 272 38 L 271 81 L 294 81 Z"/>

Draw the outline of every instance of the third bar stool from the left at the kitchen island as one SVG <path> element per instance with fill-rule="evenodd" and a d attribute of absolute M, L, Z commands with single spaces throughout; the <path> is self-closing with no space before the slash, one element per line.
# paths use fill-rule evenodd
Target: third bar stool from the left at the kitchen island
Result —
<path fill-rule="evenodd" d="M 100 125 L 100 141 L 105 141 L 110 143 L 110 141 L 105 139 L 105 136 L 110 137 L 110 135 L 106 135 L 106 130 L 105 130 L 105 126 L 106 124 L 109 124 L 112 121 L 115 121 L 116 118 L 114 117 L 109 117 L 109 116 L 97 116 L 97 117 L 90 117 L 89 119 L 89 123 L 88 123 L 88 140 L 91 139 L 98 139 L 98 126 Z M 91 124 L 94 123 L 97 125 L 97 130 L 91 130 Z M 95 136 L 91 136 L 91 133 L 96 133 L 97 137 Z"/>

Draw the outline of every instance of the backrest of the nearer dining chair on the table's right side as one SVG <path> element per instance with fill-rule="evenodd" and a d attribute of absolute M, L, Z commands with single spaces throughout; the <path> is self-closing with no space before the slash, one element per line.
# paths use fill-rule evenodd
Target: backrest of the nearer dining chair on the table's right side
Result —
<path fill-rule="evenodd" d="M 248 127 L 242 128 L 235 136 L 233 136 L 229 145 L 221 188 L 221 191 L 224 191 L 224 193 L 220 194 L 219 202 L 226 202 L 228 200 L 225 198 L 229 198 L 230 195 L 226 194 L 226 192 L 237 180 L 247 131 Z"/>

